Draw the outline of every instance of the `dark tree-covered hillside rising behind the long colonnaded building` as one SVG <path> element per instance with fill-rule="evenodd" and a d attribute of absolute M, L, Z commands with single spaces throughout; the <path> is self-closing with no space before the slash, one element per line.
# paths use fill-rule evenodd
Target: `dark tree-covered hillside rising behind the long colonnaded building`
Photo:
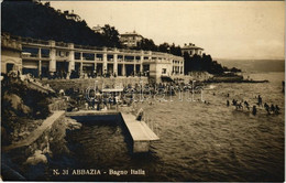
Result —
<path fill-rule="evenodd" d="M 50 2 L 3 1 L 2 32 L 24 37 L 55 40 L 91 46 L 122 47 L 119 32 L 114 26 L 105 25 L 103 33 L 95 33 L 78 14 L 62 12 L 50 7 Z M 174 43 L 155 45 L 153 40 L 143 39 L 134 50 L 157 51 L 183 56 L 179 46 Z M 221 74 L 228 71 L 221 64 L 212 61 L 210 55 L 184 55 L 185 74 L 191 71 L 207 71 Z"/>

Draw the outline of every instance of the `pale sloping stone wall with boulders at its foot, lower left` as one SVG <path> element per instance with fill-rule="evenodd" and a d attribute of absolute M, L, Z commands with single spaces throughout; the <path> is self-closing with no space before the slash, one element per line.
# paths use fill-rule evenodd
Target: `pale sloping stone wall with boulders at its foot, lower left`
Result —
<path fill-rule="evenodd" d="M 69 153 L 65 140 L 66 131 L 80 128 L 81 123 L 76 120 L 61 117 L 32 144 L 2 152 L 2 180 L 25 180 L 30 176 L 31 168 L 43 169 L 43 164 L 50 163 L 53 157 Z M 43 176 L 45 171 L 37 172 L 38 174 L 33 175 L 34 179 Z"/>

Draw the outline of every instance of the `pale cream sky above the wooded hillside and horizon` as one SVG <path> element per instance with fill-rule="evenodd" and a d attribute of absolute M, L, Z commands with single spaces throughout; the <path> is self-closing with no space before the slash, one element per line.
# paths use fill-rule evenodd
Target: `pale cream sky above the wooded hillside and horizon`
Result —
<path fill-rule="evenodd" d="M 136 31 L 155 44 L 194 43 L 215 58 L 283 58 L 284 1 L 51 1 L 92 28 Z"/>

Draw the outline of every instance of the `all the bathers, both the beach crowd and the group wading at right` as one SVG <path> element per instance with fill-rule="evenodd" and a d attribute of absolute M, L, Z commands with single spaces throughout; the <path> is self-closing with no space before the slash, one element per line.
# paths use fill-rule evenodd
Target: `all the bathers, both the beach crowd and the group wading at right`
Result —
<path fill-rule="evenodd" d="M 113 88 L 114 86 L 105 86 L 106 88 Z M 103 93 L 102 89 L 94 90 L 91 97 L 86 97 L 86 90 L 79 90 L 70 88 L 66 90 L 68 96 L 74 98 L 74 106 L 78 106 L 78 108 L 84 108 L 86 110 L 109 110 L 109 109 L 118 109 L 118 106 L 131 106 L 133 103 L 154 99 L 158 94 L 164 94 L 165 96 L 178 95 L 178 93 L 188 92 L 190 94 L 200 93 L 200 89 L 204 87 L 201 83 L 188 83 L 185 84 L 180 80 L 175 80 L 173 83 L 136 83 L 132 85 L 122 85 L 121 93 Z M 143 98 L 142 98 L 143 94 Z M 140 96 L 141 95 L 141 96 Z M 213 96 L 216 94 L 213 93 Z M 144 98 L 145 97 L 145 98 Z M 230 94 L 227 95 L 230 97 Z M 246 110 L 251 111 L 252 115 L 257 114 L 257 109 L 263 108 L 266 110 L 268 115 L 278 115 L 280 108 L 275 104 L 263 104 L 263 99 L 261 95 L 255 96 L 256 103 L 251 105 L 249 100 L 238 100 L 232 99 L 231 101 L 227 99 L 227 106 L 234 106 L 235 110 Z M 158 98 L 157 98 L 158 99 Z M 148 104 L 152 105 L 152 100 L 148 100 Z M 210 104 L 205 100 L 205 104 Z"/>

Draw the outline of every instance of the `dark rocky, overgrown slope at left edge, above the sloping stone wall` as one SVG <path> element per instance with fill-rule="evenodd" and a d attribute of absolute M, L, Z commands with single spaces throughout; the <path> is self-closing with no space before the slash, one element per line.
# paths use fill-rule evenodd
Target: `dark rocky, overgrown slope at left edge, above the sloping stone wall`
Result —
<path fill-rule="evenodd" d="M 4 77 L 1 80 L 2 144 L 20 140 L 50 115 L 48 104 L 53 95 L 30 88 L 25 82 Z"/>

